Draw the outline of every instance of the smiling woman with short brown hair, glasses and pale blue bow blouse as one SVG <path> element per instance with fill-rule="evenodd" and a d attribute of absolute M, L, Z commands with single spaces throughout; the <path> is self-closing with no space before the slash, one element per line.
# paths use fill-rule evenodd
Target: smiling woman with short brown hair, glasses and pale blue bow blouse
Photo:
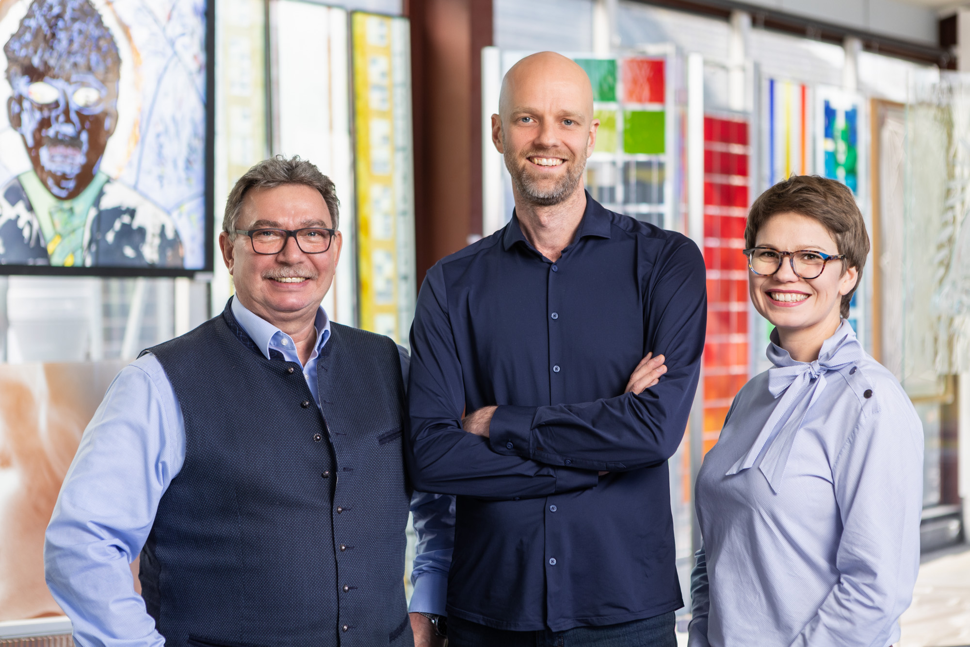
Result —
<path fill-rule="evenodd" d="M 922 430 L 844 319 L 862 215 L 849 188 L 793 176 L 755 201 L 745 243 L 774 367 L 734 398 L 697 475 L 690 644 L 886 647 L 919 569 Z"/>

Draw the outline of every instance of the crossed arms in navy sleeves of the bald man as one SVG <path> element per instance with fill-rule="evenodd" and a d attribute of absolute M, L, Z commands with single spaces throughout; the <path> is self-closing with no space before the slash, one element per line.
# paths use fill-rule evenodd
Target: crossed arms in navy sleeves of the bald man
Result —
<path fill-rule="evenodd" d="M 598 472 L 669 458 L 696 388 L 706 325 L 705 270 L 689 244 L 654 271 L 644 327 L 646 345 L 663 357 L 648 356 L 631 367 L 626 392 L 575 404 L 484 407 L 463 420 L 464 376 L 454 341 L 461 331 L 451 327 L 443 274 L 433 268 L 411 329 L 405 458 L 415 488 L 479 498 L 547 496 L 591 488 Z"/>

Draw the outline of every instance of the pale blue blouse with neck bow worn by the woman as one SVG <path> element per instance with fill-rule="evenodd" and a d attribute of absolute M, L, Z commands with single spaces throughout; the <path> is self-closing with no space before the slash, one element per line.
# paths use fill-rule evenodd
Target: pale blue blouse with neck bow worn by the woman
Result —
<path fill-rule="evenodd" d="M 690 647 L 886 647 L 920 568 L 922 426 L 843 321 L 778 345 L 697 474 Z"/>

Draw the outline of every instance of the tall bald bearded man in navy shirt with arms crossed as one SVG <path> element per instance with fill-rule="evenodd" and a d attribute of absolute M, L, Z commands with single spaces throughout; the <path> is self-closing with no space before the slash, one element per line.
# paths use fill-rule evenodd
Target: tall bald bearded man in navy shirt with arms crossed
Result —
<path fill-rule="evenodd" d="M 451 647 L 676 645 L 666 460 L 697 384 L 704 263 L 584 190 L 597 128 L 579 66 L 517 63 L 492 116 L 512 219 L 418 296 L 405 460 L 418 490 L 458 494 Z"/>

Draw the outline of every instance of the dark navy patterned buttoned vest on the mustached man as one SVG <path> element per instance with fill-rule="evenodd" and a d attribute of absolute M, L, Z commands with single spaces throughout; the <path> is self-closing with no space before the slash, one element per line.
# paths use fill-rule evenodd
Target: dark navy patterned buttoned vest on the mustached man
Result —
<path fill-rule="evenodd" d="M 300 365 L 263 356 L 228 305 L 147 352 L 185 419 L 139 576 L 165 644 L 412 645 L 394 342 L 331 323 L 322 415 Z"/>

